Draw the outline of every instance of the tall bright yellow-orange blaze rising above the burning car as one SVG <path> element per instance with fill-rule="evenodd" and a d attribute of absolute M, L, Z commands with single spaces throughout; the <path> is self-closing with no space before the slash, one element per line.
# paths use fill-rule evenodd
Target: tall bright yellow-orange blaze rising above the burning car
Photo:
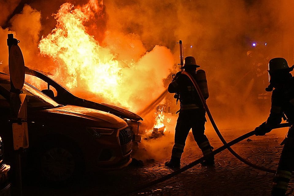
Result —
<path fill-rule="evenodd" d="M 96 1 L 91 0 L 84 6 L 87 12 L 74 9 L 70 3 L 60 6 L 55 14 L 56 28 L 42 38 L 39 49 L 42 55 L 52 57 L 59 63 L 55 74 L 67 75 L 63 82 L 69 89 L 83 84 L 86 90 L 118 99 L 116 92 L 120 88 L 122 75 L 115 55 L 101 47 L 94 36 L 86 33 L 83 25 L 90 16 L 93 2 Z"/>

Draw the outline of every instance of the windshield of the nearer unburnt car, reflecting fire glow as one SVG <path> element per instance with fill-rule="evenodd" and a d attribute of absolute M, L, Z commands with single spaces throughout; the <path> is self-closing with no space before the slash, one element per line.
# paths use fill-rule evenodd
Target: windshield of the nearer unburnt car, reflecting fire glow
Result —
<path fill-rule="evenodd" d="M 10 84 L 0 84 L 3 88 L 10 91 Z M 24 94 L 26 94 L 28 107 L 46 107 L 46 108 L 54 108 L 60 106 L 50 97 L 46 96 L 38 89 L 33 86 L 25 83 L 24 87 L 21 89 Z"/>

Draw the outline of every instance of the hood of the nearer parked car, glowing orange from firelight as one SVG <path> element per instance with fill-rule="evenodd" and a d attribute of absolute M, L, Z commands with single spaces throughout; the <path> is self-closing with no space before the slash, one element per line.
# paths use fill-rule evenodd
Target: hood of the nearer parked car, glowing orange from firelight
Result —
<path fill-rule="evenodd" d="M 116 128 L 116 129 L 120 129 L 126 126 L 126 122 L 123 119 L 117 117 L 116 115 L 113 115 L 104 111 L 86 108 L 86 107 L 67 105 L 67 106 L 47 109 L 45 111 L 49 113 L 58 113 L 62 115 L 67 115 L 68 117 L 69 116 L 81 117 L 83 118 L 83 120 L 84 119 L 94 120 L 100 123 L 101 126 L 107 126 L 107 127 Z"/>

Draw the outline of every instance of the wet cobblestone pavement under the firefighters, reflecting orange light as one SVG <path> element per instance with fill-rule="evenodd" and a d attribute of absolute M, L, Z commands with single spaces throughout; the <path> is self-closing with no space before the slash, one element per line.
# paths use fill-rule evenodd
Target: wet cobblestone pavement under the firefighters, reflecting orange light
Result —
<path fill-rule="evenodd" d="M 245 134 L 250 130 L 222 130 L 227 142 Z M 272 133 L 273 132 L 273 133 Z M 252 136 L 232 146 L 237 153 L 253 164 L 275 170 L 281 154 L 281 141 L 287 131 L 277 134 L 276 131 L 265 136 Z M 165 136 L 163 136 L 165 137 Z M 216 135 L 208 137 L 215 148 L 222 146 Z M 188 140 L 192 139 L 188 138 Z M 270 195 L 274 174 L 252 168 L 235 158 L 228 150 L 216 154 L 214 167 L 203 167 L 200 164 L 182 173 L 149 187 L 146 183 L 170 174 L 174 170 L 164 166 L 169 160 L 172 142 L 163 147 L 166 149 L 162 159 L 149 160 L 143 165 L 129 165 L 119 171 L 95 173 L 80 179 L 67 187 L 44 186 L 38 182 L 24 182 L 24 195 L 44 196 L 95 196 L 95 195 L 196 195 L 196 196 L 230 196 L 230 195 Z M 162 153 L 162 151 L 160 151 Z M 202 157 L 195 141 L 187 141 L 185 152 L 181 159 L 181 167 Z M 138 190 L 138 187 L 143 187 Z M 287 195 L 294 195 L 294 183 L 290 181 Z"/>

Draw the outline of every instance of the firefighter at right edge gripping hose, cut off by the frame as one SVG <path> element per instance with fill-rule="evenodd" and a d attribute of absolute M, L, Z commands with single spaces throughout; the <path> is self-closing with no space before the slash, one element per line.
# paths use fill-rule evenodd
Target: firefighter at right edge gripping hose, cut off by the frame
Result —
<path fill-rule="evenodd" d="M 288 123 L 294 122 L 294 77 L 290 73 L 294 68 L 288 66 L 284 58 L 273 58 L 269 61 L 269 86 L 266 91 L 272 92 L 272 104 L 267 120 L 255 128 L 255 135 L 265 135 L 274 125 L 287 118 Z M 273 179 L 271 194 L 285 195 L 294 167 L 294 128 L 288 130 L 278 168 Z"/>

